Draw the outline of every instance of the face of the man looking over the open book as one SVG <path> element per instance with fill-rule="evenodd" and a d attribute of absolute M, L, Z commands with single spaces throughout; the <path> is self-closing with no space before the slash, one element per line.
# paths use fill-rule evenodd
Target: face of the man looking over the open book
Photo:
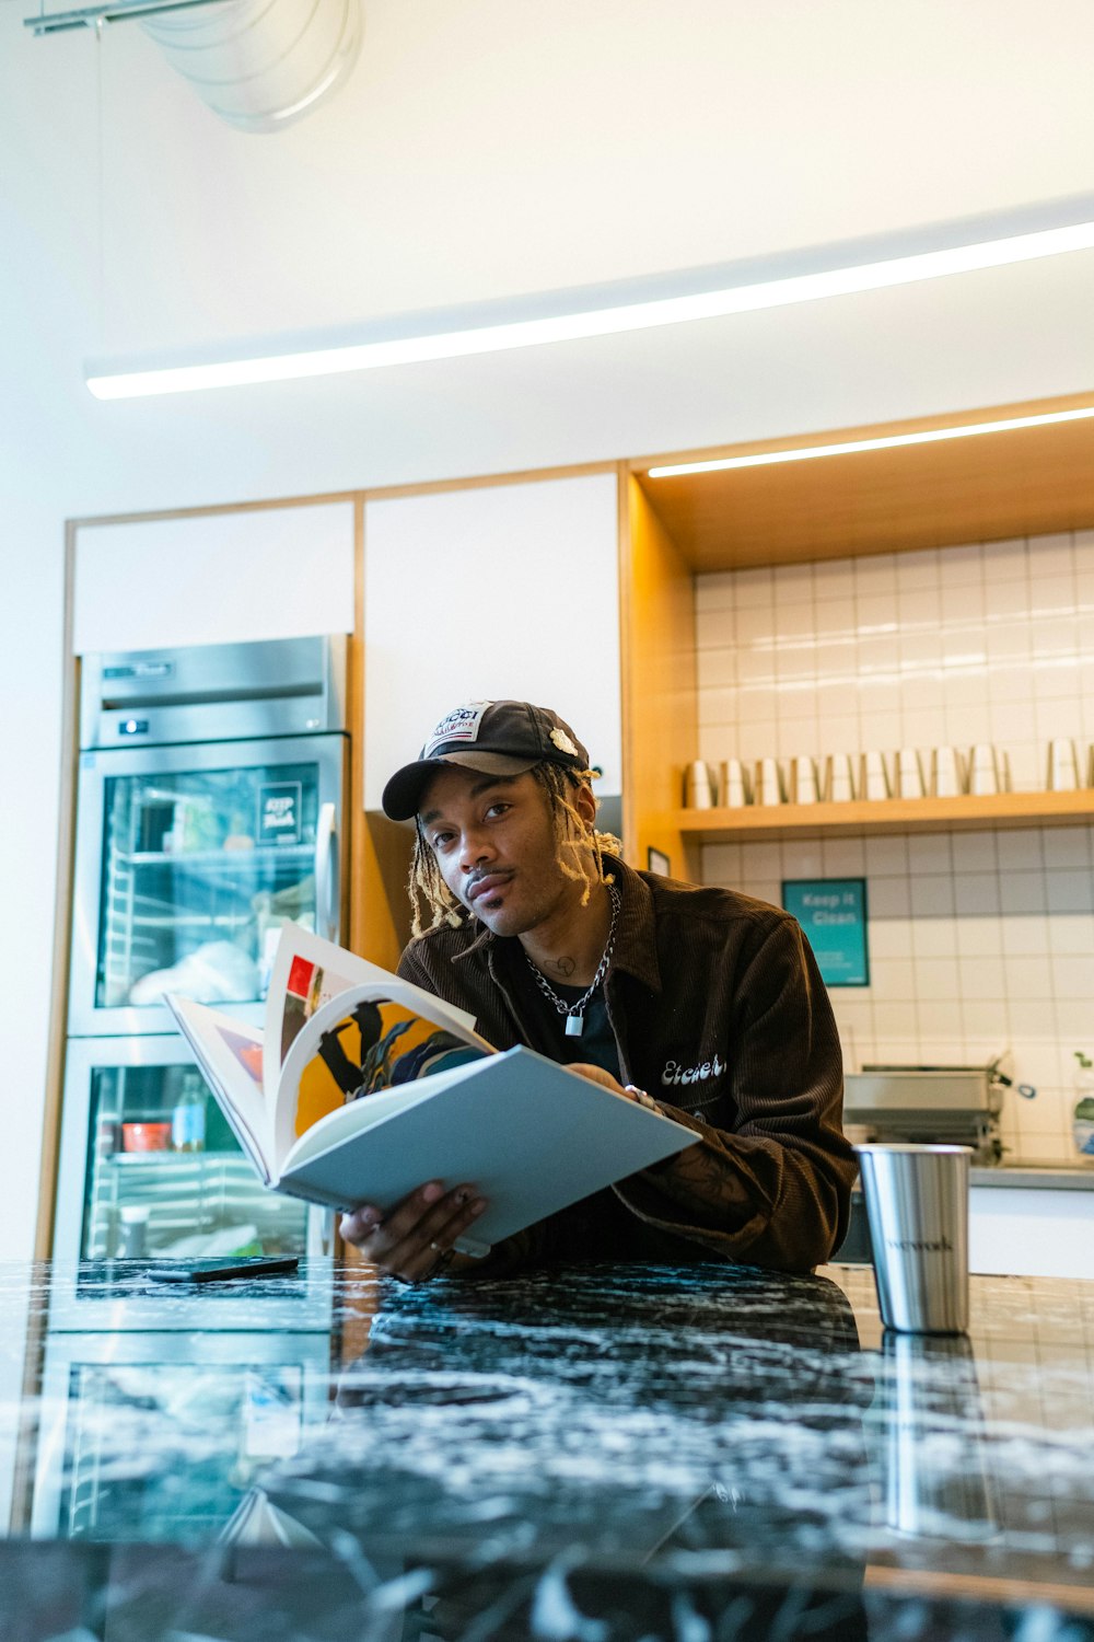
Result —
<path fill-rule="evenodd" d="M 589 788 L 574 801 L 592 821 Z M 494 934 L 523 934 L 581 903 L 584 885 L 558 864 L 548 796 L 535 775 L 440 770 L 418 821 L 444 883 Z"/>

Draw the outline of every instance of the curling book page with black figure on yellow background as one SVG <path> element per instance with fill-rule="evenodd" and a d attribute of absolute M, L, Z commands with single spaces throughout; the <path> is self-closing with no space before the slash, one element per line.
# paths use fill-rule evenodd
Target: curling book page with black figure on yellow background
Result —
<path fill-rule="evenodd" d="M 407 1090 L 492 1054 L 469 1031 L 463 1010 L 385 975 L 321 1003 L 289 1044 L 274 1110 L 274 1161 L 280 1171 L 302 1135 L 348 1103 Z"/>

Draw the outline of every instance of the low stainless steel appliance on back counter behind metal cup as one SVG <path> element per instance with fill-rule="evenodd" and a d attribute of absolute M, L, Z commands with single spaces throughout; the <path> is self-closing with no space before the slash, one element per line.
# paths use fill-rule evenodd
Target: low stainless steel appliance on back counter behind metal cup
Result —
<path fill-rule="evenodd" d="M 843 1121 L 864 1141 L 950 1143 L 1002 1161 L 1005 1079 L 987 1066 L 864 1066 L 843 1080 Z"/>

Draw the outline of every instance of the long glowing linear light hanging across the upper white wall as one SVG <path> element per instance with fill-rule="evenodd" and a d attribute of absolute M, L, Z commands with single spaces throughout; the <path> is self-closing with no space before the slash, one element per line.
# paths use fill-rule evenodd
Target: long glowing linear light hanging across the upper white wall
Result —
<path fill-rule="evenodd" d="M 1074 220 L 1078 213 L 1083 220 Z M 1055 217 L 1055 222 L 1050 218 Z M 1060 218 L 1064 220 L 1063 223 Z M 1022 223 L 1027 232 L 1014 232 Z M 722 269 L 630 281 L 597 291 L 571 291 L 523 300 L 464 309 L 459 315 L 402 317 L 359 332 L 356 340 L 313 342 L 289 338 L 277 343 L 236 345 L 220 358 L 175 358 L 159 366 L 125 361 L 90 361 L 87 386 L 97 399 L 133 399 L 146 394 L 179 394 L 200 388 L 248 383 L 280 383 L 302 376 L 335 376 L 385 365 L 454 360 L 476 353 L 500 353 L 551 342 L 612 337 L 628 330 L 679 325 L 697 319 L 751 314 L 792 302 L 817 302 L 856 291 L 922 279 L 941 279 L 984 268 L 1060 256 L 1094 248 L 1094 199 L 1037 207 L 1009 218 L 1012 232 L 999 235 L 1001 218 L 984 238 L 982 218 L 948 223 L 932 232 L 935 245 L 923 250 L 923 232 L 887 235 L 871 241 L 799 251 L 787 256 L 738 263 Z M 938 240 L 948 243 L 938 245 Z M 919 250 L 914 246 L 919 243 Z M 910 248 L 910 250 L 909 250 Z M 892 255 L 900 250 L 902 255 Z M 887 251 L 889 255 L 879 255 Z M 809 264 L 814 266 L 809 266 Z M 828 266 L 817 266 L 825 263 Z"/>

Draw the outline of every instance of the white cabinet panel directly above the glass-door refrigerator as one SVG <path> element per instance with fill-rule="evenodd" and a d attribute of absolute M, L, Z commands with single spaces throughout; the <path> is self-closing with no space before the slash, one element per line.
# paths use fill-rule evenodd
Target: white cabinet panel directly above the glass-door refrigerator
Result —
<path fill-rule="evenodd" d="M 353 502 L 82 525 L 74 652 L 353 632 Z"/>

